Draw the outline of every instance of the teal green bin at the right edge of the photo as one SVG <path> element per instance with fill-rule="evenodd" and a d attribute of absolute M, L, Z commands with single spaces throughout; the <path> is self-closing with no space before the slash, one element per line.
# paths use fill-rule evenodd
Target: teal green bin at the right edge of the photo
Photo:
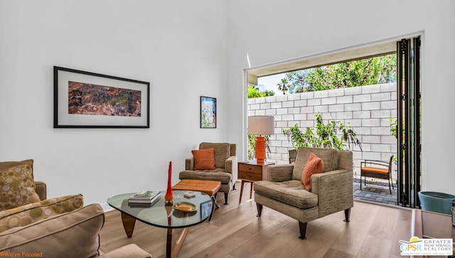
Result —
<path fill-rule="evenodd" d="M 452 200 L 455 199 L 455 195 L 438 192 L 419 192 L 418 195 L 422 210 L 452 214 Z"/>

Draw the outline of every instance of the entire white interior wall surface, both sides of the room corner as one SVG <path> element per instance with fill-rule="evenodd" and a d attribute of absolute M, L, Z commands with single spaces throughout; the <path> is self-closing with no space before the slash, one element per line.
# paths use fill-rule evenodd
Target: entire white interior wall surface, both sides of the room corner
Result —
<path fill-rule="evenodd" d="M 423 186 L 455 194 L 454 10 L 451 0 L 3 0 L 0 161 L 33 158 L 49 196 L 85 203 L 164 188 L 168 161 L 176 182 L 200 141 L 246 153 L 247 53 L 257 66 L 424 31 Z M 53 65 L 151 82 L 151 128 L 53 129 Z M 218 129 L 199 129 L 200 95 L 217 97 Z"/>

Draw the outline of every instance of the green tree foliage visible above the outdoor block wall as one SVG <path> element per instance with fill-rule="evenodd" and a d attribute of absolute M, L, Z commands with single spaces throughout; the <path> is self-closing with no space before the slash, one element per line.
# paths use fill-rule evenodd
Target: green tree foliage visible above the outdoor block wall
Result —
<path fill-rule="evenodd" d="M 382 55 L 288 72 L 277 86 L 286 94 L 396 82 L 396 67 L 396 54 Z"/>

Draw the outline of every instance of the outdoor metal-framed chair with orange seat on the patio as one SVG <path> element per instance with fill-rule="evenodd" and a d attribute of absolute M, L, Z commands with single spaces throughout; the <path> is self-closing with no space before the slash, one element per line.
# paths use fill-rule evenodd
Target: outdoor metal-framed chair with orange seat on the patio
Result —
<path fill-rule="evenodd" d="M 362 190 L 362 177 L 364 177 L 365 186 L 367 185 L 367 177 L 385 179 L 389 182 L 389 191 L 392 194 L 393 182 L 392 182 L 392 159 L 393 155 L 390 156 L 390 161 L 375 161 L 371 159 L 365 159 L 360 162 L 360 190 Z M 392 183 L 391 183 L 392 182 Z M 395 188 L 393 188 L 395 189 Z"/>

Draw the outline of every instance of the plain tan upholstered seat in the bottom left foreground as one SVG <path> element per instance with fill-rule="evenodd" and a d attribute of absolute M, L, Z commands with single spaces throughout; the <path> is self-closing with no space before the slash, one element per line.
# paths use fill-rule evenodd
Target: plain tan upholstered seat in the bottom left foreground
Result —
<path fill-rule="evenodd" d="M 0 253 L 21 254 L 22 257 L 151 258 L 136 244 L 127 244 L 103 254 L 100 231 L 104 223 L 105 213 L 101 206 L 87 205 L 0 232 Z"/>

